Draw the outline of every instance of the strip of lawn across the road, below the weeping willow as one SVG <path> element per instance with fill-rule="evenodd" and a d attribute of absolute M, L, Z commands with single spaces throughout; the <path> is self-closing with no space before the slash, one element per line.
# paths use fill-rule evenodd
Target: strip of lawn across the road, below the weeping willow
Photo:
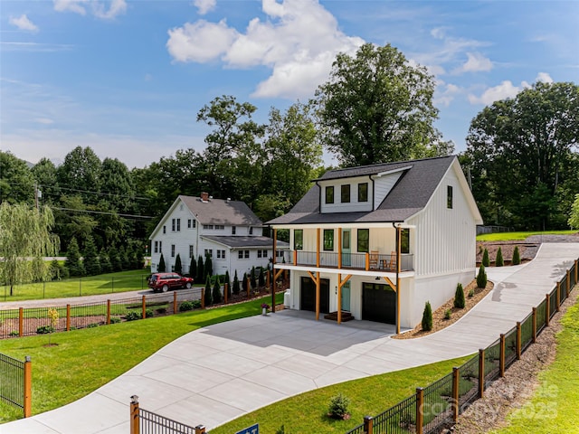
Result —
<path fill-rule="evenodd" d="M 137 291 L 147 288 L 147 270 L 135 269 L 118 273 L 100 274 L 87 278 L 67 278 L 14 287 L 0 287 L 1 301 L 38 300 L 42 298 L 94 296 L 112 292 Z"/>

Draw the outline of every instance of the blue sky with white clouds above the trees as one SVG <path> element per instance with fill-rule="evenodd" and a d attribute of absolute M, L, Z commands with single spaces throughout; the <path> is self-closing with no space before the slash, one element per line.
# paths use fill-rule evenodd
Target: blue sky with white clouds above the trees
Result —
<path fill-rule="evenodd" d="M 0 146 L 30 162 L 90 146 L 129 168 L 203 150 L 195 119 L 212 99 L 266 122 L 364 42 L 431 71 L 457 152 L 486 105 L 579 82 L 578 1 L 2 0 Z"/>

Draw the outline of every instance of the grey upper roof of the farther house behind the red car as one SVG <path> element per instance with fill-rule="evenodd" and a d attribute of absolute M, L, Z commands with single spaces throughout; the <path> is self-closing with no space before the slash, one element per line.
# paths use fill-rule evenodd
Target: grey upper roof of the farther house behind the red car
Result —
<path fill-rule="evenodd" d="M 263 222 L 246 203 L 210 199 L 201 202 L 200 197 L 179 196 L 187 208 L 195 214 L 201 224 L 223 224 L 233 226 L 262 226 Z"/>

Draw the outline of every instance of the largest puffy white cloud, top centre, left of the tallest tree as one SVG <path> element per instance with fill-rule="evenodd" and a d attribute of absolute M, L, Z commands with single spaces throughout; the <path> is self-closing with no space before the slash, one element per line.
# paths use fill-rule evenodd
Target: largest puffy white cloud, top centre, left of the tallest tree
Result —
<path fill-rule="evenodd" d="M 219 59 L 230 68 L 268 66 L 271 76 L 254 97 L 311 96 L 327 79 L 337 52 L 354 54 L 364 41 L 342 33 L 336 18 L 315 0 L 262 0 L 267 20 L 253 18 L 244 33 L 199 20 L 168 31 L 176 61 Z M 211 41 L 208 44 L 207 41 Z"/>

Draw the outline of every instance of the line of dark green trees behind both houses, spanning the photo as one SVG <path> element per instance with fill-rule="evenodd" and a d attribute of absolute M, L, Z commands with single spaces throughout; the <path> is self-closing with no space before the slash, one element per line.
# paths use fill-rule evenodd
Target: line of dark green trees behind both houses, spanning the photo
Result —
<path fill-rule="evenodd" d="M 77 146 L 62 165 L 42 158 L 29 167 L 0 152 L 0 202 L 48 205 L 61 250 L 73 240 L 86 254 L 138 250 L 179 194 L 208 192 L 248 203 L 266 222 L 289 209 L 321 175 L 324 149 L 340 166 L 368 165 L 454 152 L 433 127 L 434 78 L 391 45 L 365 44 L 338 54 L 327 82 L 307 103 L 268 121 L 257 108 L 223 95 L 197 113 L 211 127 L 205 148 L 177 150 L 128 169 Z M 488 224 L 521 230 L 567 227 L 579 192 L 579 88 L 542 83 L 499 100 L 472 119 L 465 175 Z M 41 192 L 39 196 L 37 191 Z"/>

